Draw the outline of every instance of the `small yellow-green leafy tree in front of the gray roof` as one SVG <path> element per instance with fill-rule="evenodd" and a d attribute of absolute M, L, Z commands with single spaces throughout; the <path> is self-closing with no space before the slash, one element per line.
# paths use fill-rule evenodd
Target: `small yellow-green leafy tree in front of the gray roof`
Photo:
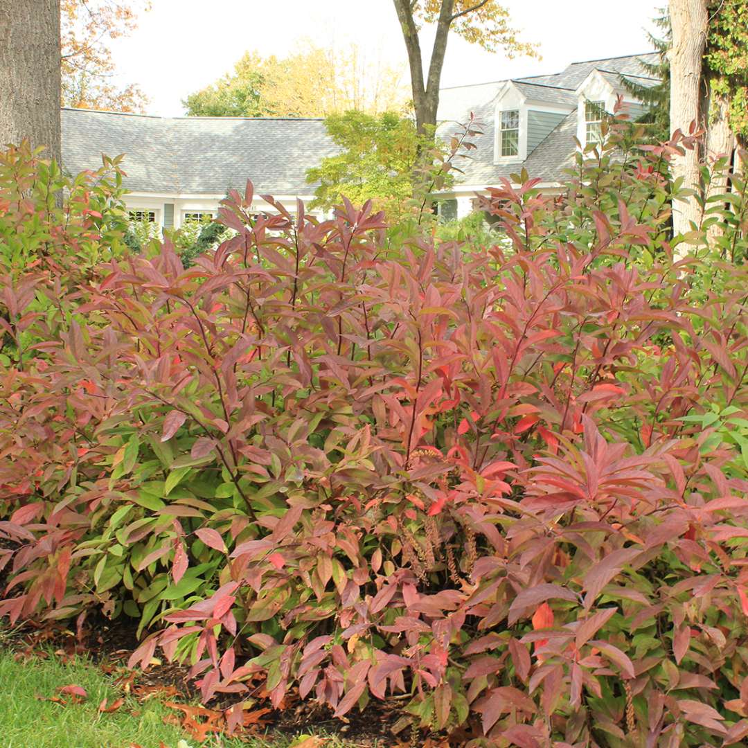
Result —
<path fill-rule="evenodd" d="M 307 181 L 319 183 L 312 206 L 331 208 L 346 195 L 354 204 L 372 200 L 388 218 L 402 217 L 410 207 L 424 144 L 413 121 L 391 111 L 346 111 L 328 117 L 326 125 L 340 153 L 308 171 Z"/>

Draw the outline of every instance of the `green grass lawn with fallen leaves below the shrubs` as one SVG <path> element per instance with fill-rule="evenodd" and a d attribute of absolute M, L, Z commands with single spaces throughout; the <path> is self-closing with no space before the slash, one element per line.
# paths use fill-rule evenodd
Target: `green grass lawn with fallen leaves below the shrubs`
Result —
<path fill-rule="evenodd" d="M 41 696 L 59 696 L 58 689 L 74 684 L 88 694 L 81 703 L 60 705 Z M 102 699 L 111 704 L 123 696 L 98 667 L 85 660 L 64 663 L 54 655 L 17 662 L 13 653 L 0 652 L 0 744 L 2 748 L 197 748 L 177 726 L 164 723 L 176 714 L 157 699 L 138 702 L 127 696 L 111 714 L 97 711 Z M 70 698 L 63 696 L 62 698 Z M 307 736 L 301 736 L 301 741 Z M 183 741 L 183 742 L 182 742 Z M 204 748 L 288 748 L 299 738 L 257 738 L 249 741 L 209 738 Z M 307 741 L 310 743 L 318 741 Z M 344 748 L 335 738 L 325 748 Z"/>

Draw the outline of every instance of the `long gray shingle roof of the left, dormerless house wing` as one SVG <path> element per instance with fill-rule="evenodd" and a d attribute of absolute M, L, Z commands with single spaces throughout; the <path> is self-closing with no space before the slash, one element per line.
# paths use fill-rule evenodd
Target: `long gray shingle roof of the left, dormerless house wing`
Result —
<path fill-rule="evenodd" d="M 62 157 L 77 174 L 101 165 L 101 154 L 125 154 L 134 192 L 224 194 L 251 179 L 255 191 L 310 194 L 307 169 L 337 147 L 323 120 L 239 117 L 150 117 L 62 110 Z"/>

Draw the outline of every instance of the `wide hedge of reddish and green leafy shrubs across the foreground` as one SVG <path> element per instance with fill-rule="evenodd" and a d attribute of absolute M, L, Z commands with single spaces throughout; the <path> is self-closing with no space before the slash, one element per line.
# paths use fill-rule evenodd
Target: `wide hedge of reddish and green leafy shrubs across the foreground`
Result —
<path fill-rule="evenodd" d="M 491 191 L 486 246 L 255 216 L 248 183 L 188 269 L 127 251 L 117 163 L 4 153 L 0 614 L 129 616 L 132 666 L 236 709 L 263 684 L 401 696 L 397 729 L 474 747 L 742 744 L 745 182 L 674 240 L 694 138 L 621 142 L 560 194 Z"/>

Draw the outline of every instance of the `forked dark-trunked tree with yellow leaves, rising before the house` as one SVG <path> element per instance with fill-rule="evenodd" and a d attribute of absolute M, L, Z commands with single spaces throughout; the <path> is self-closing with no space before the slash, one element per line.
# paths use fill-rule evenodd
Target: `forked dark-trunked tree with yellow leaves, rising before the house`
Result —
<path fill-rule="evenodd" d="M 408 51 L 413 106 L 420 133 L 436 125 L 441 71 L 450 32 L 488 52 L 503 49 L 510 58 L 516 54 L 537 56 L 535 46 L 518 39 L 518 32 L 509 25 L 509 11 L 496 0 L 393 0 L 393 3 Z M 418 35 L 423 23 L 436 26 L 425 78 Z"/>

